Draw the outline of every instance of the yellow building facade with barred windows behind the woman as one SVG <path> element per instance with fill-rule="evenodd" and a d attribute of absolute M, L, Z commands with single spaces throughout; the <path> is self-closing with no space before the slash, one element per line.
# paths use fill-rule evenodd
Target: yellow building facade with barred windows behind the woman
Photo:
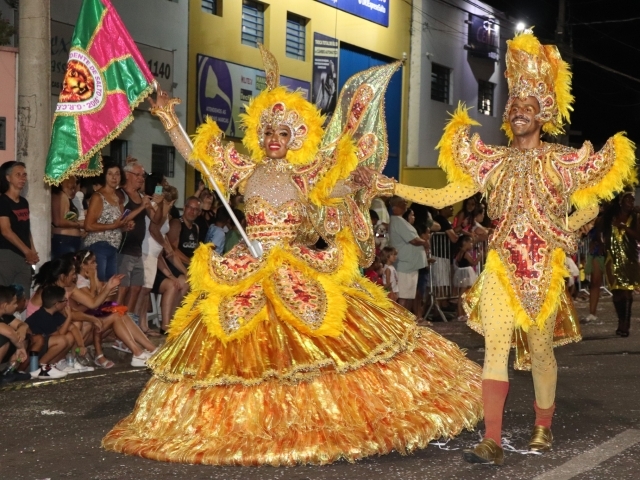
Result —
<path fill-rule="evenodd" d="M 302 90 L 327 114 L 351 75 L 409 55 L 410 2 L 189 1 L 188 132 L 194 133 L 209 115 L 241 151 L 239 115 L 264 86 L 257 42 L 278 59 L 281 83 Z M 387 173 L 396 178 L 406 155 L 408 75 L 403 70 L 386 97 Z M 188 188 L 196 181 L 191 171 Z"/>

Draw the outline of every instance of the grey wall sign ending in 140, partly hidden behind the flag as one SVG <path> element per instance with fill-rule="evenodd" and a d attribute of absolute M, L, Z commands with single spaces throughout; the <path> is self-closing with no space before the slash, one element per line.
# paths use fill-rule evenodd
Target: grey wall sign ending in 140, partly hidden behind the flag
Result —
<path fill-rule="evenodd" d="M 59 95 L 62 89 L 73 29 L 73 25 L 51 21 L 51 95 Z M 146 60 L 149 70 L 160 84 L 160 88 L 171 93 L 173 90 L 173 52 L 138 42 L 136 45 Z M 150 106 L 147 102 L 142 102 L 138 108 L 148 110 Z"/>

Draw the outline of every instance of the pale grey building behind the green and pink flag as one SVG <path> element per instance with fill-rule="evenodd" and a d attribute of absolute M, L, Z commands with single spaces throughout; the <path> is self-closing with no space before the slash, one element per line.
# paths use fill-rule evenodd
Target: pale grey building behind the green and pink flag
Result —
<path fill-rule="evenodd" d="M 161 87 L 186 99 L 188 0 L 112 0 L 112 3 Z M 81 4 L 82 0 L 51 2 L 52 117 Z M 13 9 L 5 2 L 0 3 L 0 8 L 5 19 L 14 18 Z M 178 106 L 177 112 L 182 122 L 186 122 L 186 105 Z M 181 204 L 185 193 L 184 160 L 175 154 L 161 123 L 149 113 L 147 102 L 134 111 L 134 117 L 135 121 L 103 149 L 103 156 L 124 162 L 130 155 L 137 158 L 146 171 L 164 173 L 180 191 Z"/>

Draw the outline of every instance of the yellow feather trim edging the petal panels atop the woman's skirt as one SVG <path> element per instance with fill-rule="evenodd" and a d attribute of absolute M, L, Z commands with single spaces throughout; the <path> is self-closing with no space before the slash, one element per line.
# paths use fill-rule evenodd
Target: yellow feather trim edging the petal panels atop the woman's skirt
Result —
<path fill-rule="evenodd" d="M 242 293 L 255 283 L 262 284 L 267 302 L 271 304 L 278 318 L 293 325 L 300 332 L 313 336 L 340 335 L 347 310 L 345 294 L 361 298 L 368 295 L 366 292 L 362 292 L 352 286 L 356 281 L 359 281 L 361 285 L 367 285 L 367 282 L 362 281 L 360 276 L 356 243 L 352 234 L 348 230 L 343 230 L 336 236 L 336 242 L 341 251 L 341 261 L 333 273 L 320 273 L 287 251 L 286 247 L 278 246 L 266 254 L 266 258 L 263 260 L 264 263 L 259 270 L 247 276 L 244 280 L 233 284 L 219 283 L 214 279 L 209 265 L 209 259 L 213 255 L 213 248 L 211 245 L 202 244 L 195 251 L 189 266 L 191 292 L 185 298 L 182 306 L 176 311 L 169 326 L 169 338 L 179 335 L 198 316 L 202 317 L 202 321 L 209 332 L 222 340 L 223 343 L 248 335 L 256 328 L 256 325 L 268 319 L 266 305 L 253 318 L 240 319 L 240 328 L 231 335 L 228 335 L 220 324 L 219 307 L 225 298 Z M 287 264 L 301 272 L 305 278 L 315 280 L 324 290 L 327 306 L 326 314 L 320 327 L 311 329 L 309 325 L 291 312 L 280 299 L 276 290 L 275 282 L 277 280 L 275 273 L 283 264 Z M 391 304 L 390 300 L 382 293 L 382 290 L 372 287 L 367 286 L 367 291 L 374 295 L 374 298 L 381 306 Z"/>

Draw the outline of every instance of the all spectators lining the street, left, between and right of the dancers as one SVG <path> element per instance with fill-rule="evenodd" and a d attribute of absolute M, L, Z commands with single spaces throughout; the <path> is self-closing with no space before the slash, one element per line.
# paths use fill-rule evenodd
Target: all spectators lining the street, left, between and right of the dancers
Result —
<path fill-rule="evenodd" d="M 104 343 L 130 353 L 132 366 L 144 367 L 156 348 L 150 337 L 167 333 L 188 293 L 187 271 L 198 245 L 213 243 L 223 255 L 241 240 L 204 183 L 184 201 L 181 214 L 178 190 L 164 176 L 147 174 L 135 159 L 124 167 L 107 161 L 101 175 L 82 182 L 69 177 L 52 189 L 51 259 L 35 274 L 40 257 L 21 195 L 26 182 L 23 163 L 0 168 L 3 382 L 111 368 Z M 236 196 L 231 206 L 244 227 L 242 202 Z M 409 208 L 400 197 L 375 199 L 370 216 L 376 258 L 365 275 L 420 321 L 436 301 L 441 311 L 465 320 L 456 299 L 477 278 L 492 232 L 483 199 L 466 199 L 455 215 L 453 206 Z M 591 274 L 587 321 L 596 318 L 604 283 L 603 228 L 598 220 L 583 229 L 590 240 L 588 256 L 578 262 L 582 275 L 585 269 Z M 567 261 L 572 276 L 578 275 L 578 266 Z M 148 314 L 157 305 L 154 328 Z"/>

